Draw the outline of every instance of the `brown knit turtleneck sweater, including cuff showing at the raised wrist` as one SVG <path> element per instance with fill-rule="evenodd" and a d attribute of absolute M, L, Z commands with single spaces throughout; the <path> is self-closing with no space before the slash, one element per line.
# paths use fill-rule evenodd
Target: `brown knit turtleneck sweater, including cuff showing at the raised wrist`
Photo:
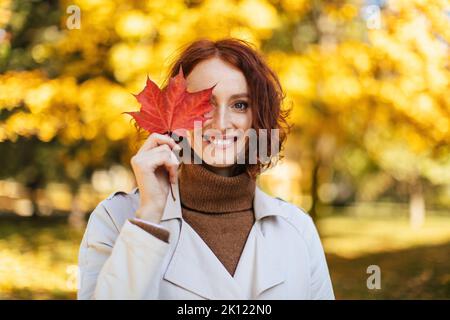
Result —
<path fill-rule="evenodd" d="M 255 222 L 253 198 L 256 181 L 246 172 L 220 176 L 201 164 L 182 164 L 179 191 L 183 219 L 233 276 Z M 163 241 L 169 233 L 134 222 Z"/>

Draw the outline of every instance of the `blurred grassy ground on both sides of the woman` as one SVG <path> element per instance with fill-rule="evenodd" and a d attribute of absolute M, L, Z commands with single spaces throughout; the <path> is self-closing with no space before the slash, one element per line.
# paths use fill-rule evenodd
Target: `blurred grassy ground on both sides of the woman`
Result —
<path fill-rule="evenodd" d="M 331 215 L 318 227 L 338 299 L 449 299 L 450 217 Z M 82 231 L 60 218 L 0 220 L 0 299 L 74 299 Z M 369 265 L 381 289 L 369 290 Z"/>

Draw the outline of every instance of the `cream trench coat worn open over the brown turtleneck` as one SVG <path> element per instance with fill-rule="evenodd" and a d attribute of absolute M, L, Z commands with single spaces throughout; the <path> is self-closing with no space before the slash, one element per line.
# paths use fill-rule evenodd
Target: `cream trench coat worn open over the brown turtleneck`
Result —
<path fill-rule="evenodd" d="M 116 192 L 92 212 L 79 251 L 78 299 L 334 299 L 312 219 L 256 187 L 253 225 L 231 276 L 181 214 L 172 184 L 164 242 L 128 221 L 139 191 Z"/>

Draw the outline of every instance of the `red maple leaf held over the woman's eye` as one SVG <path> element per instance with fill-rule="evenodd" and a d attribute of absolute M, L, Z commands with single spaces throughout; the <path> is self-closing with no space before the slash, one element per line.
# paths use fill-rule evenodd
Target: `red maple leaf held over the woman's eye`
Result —
<path fill-rule="evenodd" d="M 194 121 L 203 124 L 208 119 L 205 114 L 213 109 L 210 98 L 214 87 L 188 92 L 180 67 L 178 75 L 171 78 L 163 90 L 147 77 L 145 88 L 134 95 L 141 104 L 140 111 L 125 113 L 133 116 L 139 127 L 148 132 L 176 133 L 185 137 L 186 131 L 194 128 Z"/>

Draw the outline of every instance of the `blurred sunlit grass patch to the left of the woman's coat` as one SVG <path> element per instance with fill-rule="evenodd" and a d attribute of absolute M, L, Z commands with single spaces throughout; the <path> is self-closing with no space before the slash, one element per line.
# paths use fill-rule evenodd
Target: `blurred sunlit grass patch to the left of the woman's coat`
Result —
<path fill-rule="evenodd" d="M 2 220 L 0 299 L 75 298 L 81 237 L 61 220 Z"/>

